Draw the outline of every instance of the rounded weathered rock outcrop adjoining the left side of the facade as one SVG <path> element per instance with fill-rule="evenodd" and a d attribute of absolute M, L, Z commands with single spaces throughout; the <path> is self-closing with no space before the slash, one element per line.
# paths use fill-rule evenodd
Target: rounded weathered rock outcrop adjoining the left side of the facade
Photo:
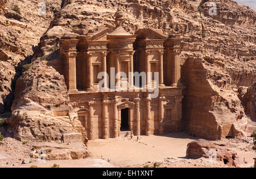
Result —
<path fill-rule="evenodd" d="M 16 139 L 64 140 L 64 135 L 73 135 L 74 140 L 80 137 L 85 142 L 64 77 L 43 63 L 35 63 L 17 80 L 11 110 L 6 122 L 13 127 Z"/>

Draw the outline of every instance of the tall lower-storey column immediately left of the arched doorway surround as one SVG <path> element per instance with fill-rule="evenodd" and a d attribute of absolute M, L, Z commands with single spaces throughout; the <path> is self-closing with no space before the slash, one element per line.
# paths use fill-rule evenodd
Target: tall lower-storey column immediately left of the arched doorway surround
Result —
<path fill-rule="evenodd" d="M 105 97 L 102 101 L 102 139 L 109 138 L 109 117 L 108 117 L 108 104 L 109 98 Z"/>

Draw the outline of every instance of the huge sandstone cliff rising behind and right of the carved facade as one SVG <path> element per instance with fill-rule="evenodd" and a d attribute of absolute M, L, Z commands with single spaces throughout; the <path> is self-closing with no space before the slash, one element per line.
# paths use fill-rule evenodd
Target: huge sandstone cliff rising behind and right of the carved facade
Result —
<path fill-rule="evenodd" d="M 125 29 L 131 33 L 138 28 L 151 27 L 162 29 L 165 35 L 183 35 L 181 80 L 187 87 L 183 100 L 184 129 L 191 135 L 213 140 L 243 135 L 248 118 L 238 99 L 238 88 L 256 81 L 256 13 L 231 0 L 213 2 L 217 3 L 216 16 L 209 15 L 208 1 L 201 3 L 199 0 L 64 0 L 63 8 L 55 13 L 35 49 L 32 62 L 38 68 L 43 62 L 61 74 L 60 37 L 67 32 L 90 34 L 102 26 L 113 29 L 113 14 L 120 7 L 126 14 Z M 199 7 L 203 11 L 199 11 Z M 26 88 L 33 85 L 27 83 Z M 16 90 L 19 91 L 19 87 Z M 20 96 L 28 93 L 24 90 Z M 47 93 L 44 96 L 48 96 Z M 58 96 L 57 91 L 51 97 L 55 96 Z M 15 99 L 18 101 L 19 97 Z M 42 106 L 39 101 L 34 105 Z M 50 103 L 49 108 L 52 105 Z M 12 125 L 16 128 L 23 127 L 18 121 L 26 121 L 26 117 L 17 117 L 16 113 L 26 108 L 26 103 L 16 107 L 14 102 L 12 120 L 16 123 Z"/>

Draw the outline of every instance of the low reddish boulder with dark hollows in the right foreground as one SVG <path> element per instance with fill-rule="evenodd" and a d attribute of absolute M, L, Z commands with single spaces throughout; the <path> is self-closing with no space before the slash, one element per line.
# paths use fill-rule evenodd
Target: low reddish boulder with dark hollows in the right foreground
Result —
<path fill-rule="evenodd" d="M 200 159 L 201 157 L 210 158 L 216 151 L 216 160 L 222 161 L 228 166 L 238 167 L 238 157 L 236 152 L 229 149 L 225 143 L 210 142 L 207 140 L 195 140 L 188 144 L 187 156 L 191 159 Z"/>

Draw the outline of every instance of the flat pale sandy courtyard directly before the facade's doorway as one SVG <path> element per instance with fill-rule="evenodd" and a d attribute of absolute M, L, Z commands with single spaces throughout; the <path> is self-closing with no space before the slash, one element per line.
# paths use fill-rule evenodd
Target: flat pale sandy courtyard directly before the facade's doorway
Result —
<path fill-rule="evenodd" d="M 148 161 L 156 162 L 167 157 L 180 157 L 186 155 L 187 144 L 197 138 L 185 133 L 166 134 L 163 136 L 151 135 L 130 139 L 120 137 L 115 139 L 97 139 L 89 141 L 88 148 L 99 158 L 108 160 L 120 167 L 130 167 Z"/>

